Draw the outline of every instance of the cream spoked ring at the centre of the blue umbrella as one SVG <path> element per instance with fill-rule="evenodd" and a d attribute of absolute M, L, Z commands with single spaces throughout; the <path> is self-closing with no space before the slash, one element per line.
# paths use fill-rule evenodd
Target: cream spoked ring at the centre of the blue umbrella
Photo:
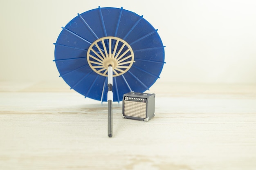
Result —
<path fill-rule="evenodd" d="M 102 37 L 94 41 L 87 51 L 87 61 L 94 72 L 108 76 L 108 66 L 113 68 L 113 77 L 126 73 L 134 62 L 130 45 L 117 37 Z"/>

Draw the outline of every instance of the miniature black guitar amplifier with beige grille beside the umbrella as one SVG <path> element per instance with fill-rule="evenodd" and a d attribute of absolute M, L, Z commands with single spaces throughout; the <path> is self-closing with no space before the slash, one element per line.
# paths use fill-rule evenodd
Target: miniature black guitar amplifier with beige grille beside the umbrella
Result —
<path fill-rule="evenodd" d="M 155 94 L 126 93 L 123 96 L 123 117 L 149 121 L 155 116 Z"/>

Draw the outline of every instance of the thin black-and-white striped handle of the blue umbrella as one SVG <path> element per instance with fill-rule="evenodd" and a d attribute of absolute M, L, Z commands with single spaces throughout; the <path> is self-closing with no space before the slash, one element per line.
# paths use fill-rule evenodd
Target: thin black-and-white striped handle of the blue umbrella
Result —
<path fill-rule="evenodd" d="M 113 68 L 108 66 L 108 137 L 112 137 Z"/>

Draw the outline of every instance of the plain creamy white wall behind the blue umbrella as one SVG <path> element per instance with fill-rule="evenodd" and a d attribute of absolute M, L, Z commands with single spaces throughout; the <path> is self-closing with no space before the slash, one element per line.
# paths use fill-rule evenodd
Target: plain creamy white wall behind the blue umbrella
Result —
<path fill-rule="evenodd" d="M 255 0 L 6 0 L 0 2 L 0 81 L 56 81 L 54 45 L 70 20 L 123 7 L 162 38 L 160 81 L 256 83 Z"/>

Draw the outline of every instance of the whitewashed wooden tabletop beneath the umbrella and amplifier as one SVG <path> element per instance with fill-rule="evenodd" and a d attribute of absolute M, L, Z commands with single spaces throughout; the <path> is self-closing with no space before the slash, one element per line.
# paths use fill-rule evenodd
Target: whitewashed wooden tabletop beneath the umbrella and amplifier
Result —
<path fill-rule="evenodd" d="M 0 170 L 255 170 L 256 85 L 156 82 L 155 117 L 65 83 L 0 82 Z"/>

